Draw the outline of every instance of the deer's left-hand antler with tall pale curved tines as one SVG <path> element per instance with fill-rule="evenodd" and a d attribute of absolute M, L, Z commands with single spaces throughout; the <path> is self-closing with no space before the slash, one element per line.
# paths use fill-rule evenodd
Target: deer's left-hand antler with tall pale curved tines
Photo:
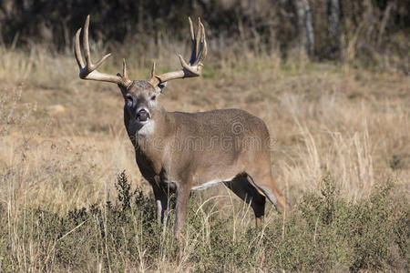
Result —
<path fill-rule="evenodd" d="M 123 59 L 123 62 L 122 62 L 123 76 L 120 76 L 119 73 L 117 74 L 117 76 L 114 76 L 114 75 L 108 75 L 105 73 L 100 73 L 97 71 L 98 66 L 101 66 L 101 64 L 111 54 L 108 53 L 108 55 L 103 56 L 99 61 L 97 61 L 97 64 L 93 65 L 93 63 L 91 62 L 91 56 L 89 53 L 88 25 L 89 25 L 89 15 L 87 15 L 86 23 L 84 23 L 84 33 L 83 33 L 83 51 L 84 51 L 84 56 L 86 57 L 86 65 L 84 65 L 84 61 L 83 61 L 83 57 L 81 56 L 80 45 L 79 45 L 79 35 L 81 33 L 81 28 L 77 30 L 77 34 L 76 34 L 75 54 L 76 54 L 77 64 L 80 70 L 79 77 L 82 79 L 87 79 L 87 80 L 115 83 L 115 84 L 118 84 L 124 87 L 130 86 L 132 84 L 132 81 L 128 79 L 127 65 L 126 65 L 125 59 Z"/>

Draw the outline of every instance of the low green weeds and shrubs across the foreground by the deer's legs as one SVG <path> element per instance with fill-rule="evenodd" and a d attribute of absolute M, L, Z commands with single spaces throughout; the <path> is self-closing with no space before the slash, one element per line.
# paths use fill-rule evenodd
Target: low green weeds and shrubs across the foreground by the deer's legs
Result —
<path fill-rule="evenodd" d="M 392 195 L 393 183 L 378 187 L 370 197 L 356 203 L 339 196 L 332 177 L 323 178 L 322 184 L 322 194 L 306 194 L 284 223 L 275 215 L 266 227 L 235 230 L 232 218 L 208 215 L 209 239 L 198 211 L 200 207 L 210 211 L 212 206 L 191 199 L 186 245 L 182 249 L 183 266 L 199 272 L 254 268 L 266 271 L 408 269 L 408 202 Z M 23 246 L 29 248 L 30 244 L 38 248 L 38 254 L 33 259 L 26 252 L 26 261 L 39 261 L 36 271 L 62 268 L 84 271 L 87 267 L 160 270 L 164 262 L 177 267 L 180 249 L 171 228 L 162 229 L 156 223 L 153 201 L 139 189 L 130 190 L 125 172 L 118 176 L 116 187 L 118 203 L 114 205 L 96 204 L 65 215 L 27 208 L 26 224 L 15 227 L 15 234 L 2 225 L 2 269 L 24 269 L 26 266 L 16 259 L 15 251 Z M 19 241 L 14 241 L 13 236 Z"/>

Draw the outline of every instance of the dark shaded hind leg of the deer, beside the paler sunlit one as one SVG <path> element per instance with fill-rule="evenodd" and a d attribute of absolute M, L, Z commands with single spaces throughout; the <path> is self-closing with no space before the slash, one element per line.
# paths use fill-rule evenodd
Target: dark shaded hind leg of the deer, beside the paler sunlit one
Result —
<path fill-rule="evenodd" d="M 261 224 L 261 217 L 265 215 L 265 197 L 262 196 L 258 190 L 251 185 L 248 177 L 240 175 L 233 178 L 231 181 L 223 182 L 226 187 L 240 197 L 243 201 L 251 204 L 255 214 L 255 225 L 258 227 Z"/>

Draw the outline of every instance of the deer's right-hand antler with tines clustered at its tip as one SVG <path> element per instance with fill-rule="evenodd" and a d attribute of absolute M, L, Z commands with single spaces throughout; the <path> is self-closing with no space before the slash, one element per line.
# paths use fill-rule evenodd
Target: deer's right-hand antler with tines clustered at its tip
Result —
<path fill-rule="evenodd" d="M 190 20 L 190 17 L 188 17 Z M 190 64 L 187 64 L 182 56 L 179 56 L 180 65 L 182 70 L 172 71 L 162 75 L 155 74 L 155 63 L 152 66 L 151 78 L 149 83 L 152 86 L 158 86 L 161 83 L 165 83 L 169 80 L 185 77 L 200 76 L 202 72 L 202 61 L 207 56 L 207 41 L 205 39 L 205 28 L 198 18 L 198 30 L 197 34 L 194 34 L 192 21 L 190 20 L 190 39 L 192 41 L 192 53 L 190 55 Z"/>

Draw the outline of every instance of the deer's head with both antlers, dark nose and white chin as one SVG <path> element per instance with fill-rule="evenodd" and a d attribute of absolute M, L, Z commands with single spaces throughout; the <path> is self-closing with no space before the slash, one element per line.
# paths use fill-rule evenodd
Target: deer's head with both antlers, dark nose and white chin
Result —
<path fill-rule="evenodd" d="M 189 17 L 190 20 L 190 17 Z M 75 55 L 77 65 L 79 67 L 79 77 L 86 80 L 105 81 L 118 85 L 122 96 L 125 100 L 125 109 L 128 115 L 134 118 L 139 126 L 149 123 L 149 119 L 155 115 L 157 99 L 162 93 L 162 89 L 167 85 L 168 81 L 179 78 L 200 76 L 202 72 L 202 62 L 207 56 L 207 42 L 205 39 L 205 28 L 198 19 L 198 31 L 195 34 L 192 21 L 190 20 L 190 38 L 191 38 L 191 55 L 190 61 L 187 62 L 179 55 L 179 62 L 182 69 L 168 72 L 162 75 L 157 75 L 155 72 L 156 65 L 152 65 L 151 77 L 148 80 L 130 80 L 128 79 L 127 64 L 125 59 L 122 63 L 122 75 L 108 75 L 97 71 L 97 68 L 110 56 L 108 53 L 93 64 L 91 61 L 89 44 L 88 44 L 88 26 L 89 15 L 87 15 L 84 24 L 83 33 L 83 52 L 86 58 L 84 63 L 80 49 L 80 33 L 81 28 L 77 30 Z"/>

